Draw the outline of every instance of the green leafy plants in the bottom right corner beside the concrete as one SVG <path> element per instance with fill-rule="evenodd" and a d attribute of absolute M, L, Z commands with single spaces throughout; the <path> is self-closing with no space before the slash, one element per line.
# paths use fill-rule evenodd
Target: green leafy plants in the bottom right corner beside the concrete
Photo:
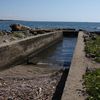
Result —
<path fill-rule="evenodd" d="M 87 100 L 100 100 L 100 69 L 88 71 L 83 76 Z"/>

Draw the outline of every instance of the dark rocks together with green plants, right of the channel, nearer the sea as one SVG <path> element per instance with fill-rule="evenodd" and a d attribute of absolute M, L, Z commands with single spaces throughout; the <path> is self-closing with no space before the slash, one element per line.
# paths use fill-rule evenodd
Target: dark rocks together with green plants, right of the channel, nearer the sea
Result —
<path fill-rule="evenodd" d="M 100 62 L 100 34 L 86 33 L 83 36 L 85 42 L 85 55 L 96 62 Z"/>

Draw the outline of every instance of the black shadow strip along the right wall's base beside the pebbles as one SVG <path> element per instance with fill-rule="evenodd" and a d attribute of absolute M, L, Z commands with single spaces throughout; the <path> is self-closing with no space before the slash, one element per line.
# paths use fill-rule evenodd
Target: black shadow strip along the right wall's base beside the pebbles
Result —
<path fill-rule="evenodd" d="M 63 90 L 64 90 L 64 87 L 65 87 L 65 82 L 67 80 L 67 76 L 68 76 L 68 71 L 69 69 L 65 69 L 63 71 L 63 74 L 61 76 L 61 79 L 56 87 L 56 91 L 55 93 L 53 94 L 53 98 L 52 100 L 61 100 L 61 97 L 62 97 L 62 94 L 63 94 Z"/>

